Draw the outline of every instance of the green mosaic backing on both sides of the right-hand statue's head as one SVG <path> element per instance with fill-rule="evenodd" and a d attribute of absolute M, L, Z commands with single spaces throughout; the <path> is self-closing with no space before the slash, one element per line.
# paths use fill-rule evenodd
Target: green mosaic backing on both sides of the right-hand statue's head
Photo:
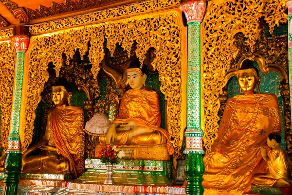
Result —
<path fill-rule="evenodd" d="M 258 65 L 255 63 L 254 66 L 258 68 Z M 280 95 L 280 81 L 281 78 L 280 76 L 275 73 L 275 72 L 269 72 L 268 74 L 263 74 L 259 71 L 259 76 L 261 77 L 260 85 L 259 85 L 259 90 L 261 93 L 274 93 L 277 96 L 278 99 L 278 105 L 279 105 L 279 111 L 280 111 L 280 118 L 281 118 L 281 125 L 282 125 L 282 130 L 281 130 L 281 147 L 285 149 L 285 140 L 284 140 L 284 120 L 283 120 L 283 99 Z M 239 85 L 237 81 L 237 77 L 234 76 L 230 83 L 227 86 L 228 89 L 228 97 L 234 97 L 236 95 L 239 95 Z"/>

